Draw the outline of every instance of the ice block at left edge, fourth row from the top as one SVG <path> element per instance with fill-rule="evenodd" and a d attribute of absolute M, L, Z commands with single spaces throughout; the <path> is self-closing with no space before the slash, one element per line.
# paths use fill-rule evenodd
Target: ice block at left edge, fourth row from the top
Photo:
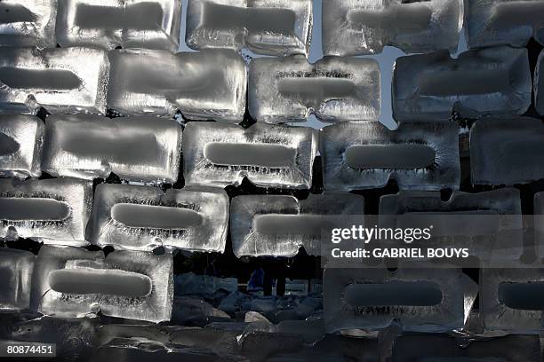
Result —
<path fill-rule="evenodd" d="M 86 245 L 92 183 L 71 178 L 0 178 L 0 238 Z"/>

